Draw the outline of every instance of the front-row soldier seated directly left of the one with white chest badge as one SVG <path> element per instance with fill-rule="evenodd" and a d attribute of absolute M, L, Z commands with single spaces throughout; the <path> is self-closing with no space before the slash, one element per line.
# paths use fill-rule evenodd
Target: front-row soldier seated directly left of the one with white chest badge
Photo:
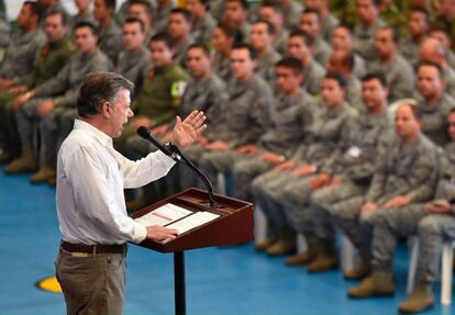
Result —
<path fill-rule="evenodd" d="M 313 175 L 336 154 L 353 127 L 354 114 L 344 101 L 346 81 L 339 74 L 322 80 L 322 100 L 313 106 L 312 123 L 297 151 L 273 170 L 253 181 L 255 202 L 276 228 L 258 248 L 269 255 L 286 255 L 296 249 L 296 234 L 313 234 L 308 209 Z"/>

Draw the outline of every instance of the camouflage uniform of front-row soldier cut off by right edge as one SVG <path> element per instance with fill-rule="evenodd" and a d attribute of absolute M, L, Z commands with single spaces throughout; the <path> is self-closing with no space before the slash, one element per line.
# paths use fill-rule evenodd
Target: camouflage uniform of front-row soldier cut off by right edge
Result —
<path fill-rule="evenodd" d="M 452 202 L 455 198 L 455 144 L 446 146 L 442 157 L 439 183 L 434 200 Z M 451 226 L 452 217 L 447 215 L 430 215 L 425 203 L 385 211 L 375 223 L 373 237 L 373 267 L 377 270 L 390 271 L 393 251 L 399 237 L 408 237 L 418 232 L 421 237 L 421 251 L 418 263 L 420 281 L 434 282 L 439 274 L 441 257 L 442 226 Z M 441 221 L 442 218 L 442 221 Z M 447 225 L 445 224 L 447 222 Z M 455 229 L 447 229 L 447 236 L 455 236 Z M 441 241 L 440 244 L 437 241 Z"/>

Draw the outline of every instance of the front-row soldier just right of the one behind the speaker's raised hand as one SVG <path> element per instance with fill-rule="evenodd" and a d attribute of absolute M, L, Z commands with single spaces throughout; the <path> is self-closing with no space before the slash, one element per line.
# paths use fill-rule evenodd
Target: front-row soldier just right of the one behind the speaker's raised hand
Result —
<path fill-rule="evenodd" d="M 232 80 L 228 85 L 223 131 L 208 144 L 200 167 L 212 183 L 219 172 L 230 173 L 234 162 L 256 145 L 269 125 L 273 94 L 269 86 L 254 74 L 256 55 L 247 44 L 236 44 L 231 53 Z"/>

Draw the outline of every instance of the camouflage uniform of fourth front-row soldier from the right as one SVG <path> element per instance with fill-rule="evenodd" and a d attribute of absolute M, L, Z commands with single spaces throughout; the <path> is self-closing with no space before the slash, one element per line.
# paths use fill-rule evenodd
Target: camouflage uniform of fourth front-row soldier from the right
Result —
<path fill-rule="evenodd" d="M 299 165 L 322 165 L 340 149 L 353 123 L 353 112 L 344 103 L 335 110 L 319 103 L 311 126 L 302 145 L 292 159 Z M 260 205 L 269 222 L 282 228 L 289 222 L 292 229 L 303 234 L 312 233 L 311 212 L 308 211 L 312 176 L 295 177 L 289 172 L 271 170 L 253 181 L 255 202 Z"/>

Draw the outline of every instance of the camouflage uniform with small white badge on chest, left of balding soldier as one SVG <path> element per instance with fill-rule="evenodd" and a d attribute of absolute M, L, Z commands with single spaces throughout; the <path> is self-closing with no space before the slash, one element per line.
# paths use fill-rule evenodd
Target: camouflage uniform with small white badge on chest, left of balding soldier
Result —
<path fill-rule="evenodd" d="M 387 109 L 379 114 L 363 111 L 356 121 L 357 128 L 351 134 L 348 149 L 337 165 L 328 169 L 331 175 L 340 177 L 342 183 L 322 188 L 311 196 L 315 234 L 326 248 L 335 241 L 329 210 L 340 202 L 366 193 L 376 167 L 384 162 L 393 139 L 393 127 Z"/>

